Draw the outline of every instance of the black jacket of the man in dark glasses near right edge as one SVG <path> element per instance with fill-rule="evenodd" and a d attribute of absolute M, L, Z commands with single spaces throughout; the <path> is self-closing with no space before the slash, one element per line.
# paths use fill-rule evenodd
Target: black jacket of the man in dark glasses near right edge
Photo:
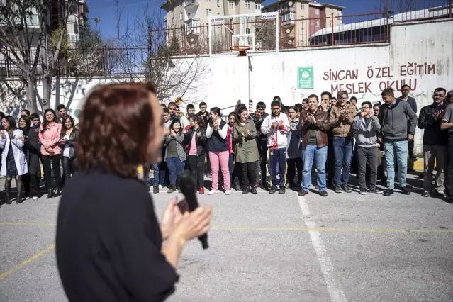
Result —
<path fill-rule="evenodd" d="M 418 116 L 418 128 L 425 129 L 423 133 L 423 145 L 446 146 L 448 144 L 448 131 L 440 130 L 442 118 L 434 119 L 437 111 L 445 110 L 445 106 L 427 105 L 422 108 Z"/>

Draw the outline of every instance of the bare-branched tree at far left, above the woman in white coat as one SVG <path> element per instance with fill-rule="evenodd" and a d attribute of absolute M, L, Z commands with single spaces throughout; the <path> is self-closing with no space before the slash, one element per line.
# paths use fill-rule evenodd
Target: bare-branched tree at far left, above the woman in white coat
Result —
<path fill-rule="evenodd" d="M 74 4 L 74 0 L 6 0 L 6 6 L 1 7 L 0 55 L 9 66 L 0 81 L 10 94 L 26 99 L 32 112 L 38 111 L 38 102 L 41 109 L 50 107 L 52 77 Z M 58 16 L 52 15 L 59 24 L 54 47 L 47 23 L 51 11 L 58 11 Z M 21 86 L 14 86 L 7 77 L 18 77 Z M 39 82 L 43 84 L 42 97 L 37 95 Z"/>

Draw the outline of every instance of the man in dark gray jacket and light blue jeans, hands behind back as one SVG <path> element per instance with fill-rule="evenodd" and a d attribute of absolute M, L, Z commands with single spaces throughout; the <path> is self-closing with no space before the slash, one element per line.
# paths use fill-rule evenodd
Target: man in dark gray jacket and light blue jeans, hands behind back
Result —
<path fill-rule="evenodd" d="M 408 172 L 408 142 L 414 139 L 417 114 L 406 101 L 395 99 L 393 89 L 382 91 L 384 104 L 379 111 L 379 123 L 384 140 L 384 151 L 387 164 L 387 188 L 384 196 L 391 196 L 395 189 L 395 157 L 398 163 L 398 179 L 401 191 L 409 195 L 406 186 Z"/>

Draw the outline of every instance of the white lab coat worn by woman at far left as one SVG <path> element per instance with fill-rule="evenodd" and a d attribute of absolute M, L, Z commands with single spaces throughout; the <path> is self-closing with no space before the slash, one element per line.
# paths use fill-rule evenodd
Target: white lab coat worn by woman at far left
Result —
<path fill-rule="evenodd" d="M 6 157 L 8 156 L 9 151 L 9 135 L 8 131 L 0 130 L 5 134 L 5 138 L 0 136 L 0 148 L 3 149 L 1 152 L 1 169 L 0 175 L 6 176 Z M 14 161 L 16 162 L 17 172 L 19 175 L 28 173 L 27 159 L 25 154 L 23 154 L 23 142 L 18 138 L 23 137 L 22 130 L 16 129 L 13 132 L 15 138 L 11 140 L 11 146 L 13 147 Z"/>

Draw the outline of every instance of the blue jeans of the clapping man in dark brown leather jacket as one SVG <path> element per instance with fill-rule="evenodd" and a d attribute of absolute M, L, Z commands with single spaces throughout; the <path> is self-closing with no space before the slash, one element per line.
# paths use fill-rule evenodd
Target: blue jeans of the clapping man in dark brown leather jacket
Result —
<path fill-rule="evenodd" d="M 319 191 L 326 191 L 325 184 L 325 162 L 327 161 L 327 150 L 328 147 L 320 147 L 317 145 L 306 145 L 302 147 L 302 183 L 301 188 L 303 191 L 308 192 L 308 187 L 311 185 L 311 168 L 313 167 L 313 161 L 318 174 L 318 186 Z"/>

